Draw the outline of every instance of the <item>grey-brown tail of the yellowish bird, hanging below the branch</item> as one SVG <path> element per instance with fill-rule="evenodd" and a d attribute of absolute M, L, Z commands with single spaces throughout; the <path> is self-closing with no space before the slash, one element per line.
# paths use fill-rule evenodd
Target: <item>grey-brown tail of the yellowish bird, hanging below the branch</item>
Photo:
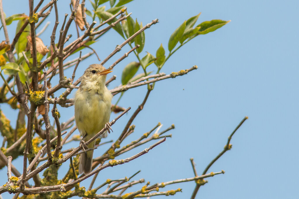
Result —
<path fill-rule="evenodd" d="M 93 148 L 94 144 L 95 144 L 95 140 L 91 142 L 89 145 L 87 145 L 87 147 L 89 149 Z M 92 155 L 93 155 L 93 150 L 83 152 L 81 154 L 80 164 L 79 164 L 79 174 L 82 174 L 83 172 L 84 174 L 88 174 L 89 172 L 91 172 Z"/>

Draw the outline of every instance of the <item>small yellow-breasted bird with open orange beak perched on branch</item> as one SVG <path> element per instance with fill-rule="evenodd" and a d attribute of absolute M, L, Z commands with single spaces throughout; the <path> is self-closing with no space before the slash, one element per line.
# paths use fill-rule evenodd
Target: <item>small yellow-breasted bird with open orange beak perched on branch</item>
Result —
<path fill-rule="evenodd" d="M 106 77 L 112 72 L 112 68 L 106 69 L 100 64 L 91 64 L 81 77 L 81 84 L 75 93 L 75 122 L 83 136 L 80 145 L 84 152 L 81 154 L 79 163 L 79 174 L 91 172 L 92 155 L 94 150 L 86 151 L 84 148 L 93 148 L 95 140 L 86 145 L 90 138 L 96 135 L 101 129 L 108 125 L 111 113 L 111 100 L 113 95 L 107 89 Z M 110 131 L 109 131 L 110 132 Z M 107 130 L 100 135 L 106 138 Z"/>

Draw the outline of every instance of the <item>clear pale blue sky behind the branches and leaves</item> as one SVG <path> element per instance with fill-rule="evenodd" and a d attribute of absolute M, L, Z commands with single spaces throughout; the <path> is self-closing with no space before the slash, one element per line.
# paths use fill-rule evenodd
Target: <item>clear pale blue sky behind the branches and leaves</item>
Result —
<path fill-rule="evenodd" d="M 3 2 L 7 16 L 28 14 L 28 2 L 16 2 L 18 6 L 12 1 Z M 68 1 L 58 1 L 58 5 L 59 10 L 64 10 L 60 13 L 61 19 L 66 11 L 69 13 Z M 89 3 L 87 7 L 91 8 Z M 100 184 L 107 178 L 130 176 L 139 169 L 141 173 L 135 179 L 145 178 L 151 184 L 190 178 L 193 177 L 191 157 L 197 164 L 197 171 L 202 173 L 223 149 L 228 135 L 247 115 L 249 119 L 231 140 L 233 148 L 209 170 L 218 172 L 223 169 L 225 174 L 209 178 L 209 182 L 200 188 L 197 198 L 298 198 L 299 29 L 298 15 L 295 14 L 298 13 L 298 1 L 135 0 L 126 7 L 128 12 L 132 12 L 132 17 L 137 17 L 143 24 L 155 18 L 160 21 L 145 31 L 144 55 L 145 51 L 155 55 L 161 43 L 167 49 L 173 31 L 184 20 L 200 12 L 196 24 L 211 19 L 231 22 L 188 42 L 167 61 L 161 70 L 167 74 L 193 65 L 199 68 L 188 75 L 156 83 L 144 109 L 133 121 L 135 132 L 127 142 L 139 138 L 158 122 L 164 124 L 162 129 L 175 124 L 176 128 L 170 132 L 173 137 L 133 162 L 105 169 L 100 172 L 96 183 Z M 49 45 L 54 25 L 54 15 L 51 17 L 47 33 L 41 36 L 44 42 L 48 41 L 46 45 Z M 15 26 L 16 23 L 9 26 L 11 33 L 15 32 Z M 74 31 L 74 26 L 70 30 Z M 4 40 L 2 30 L 0 34 Z M 93 47 L 103 60 L 122 41 L 110 30 Z M 128 50 L 124 47 L 106 66 Z M 117 79 L 110 89 L 120 84 L 121 71 L 130 61 L 136 61 L 133 54 L 115 67 L 111 75 L 117 75 Z M 93 63 L 97 63 L 95 56 L 82 61 L 77 76 Z M 150 67 L 155 70 L 154 65 Z M 66 72 L 69 77 L 71 73 L 72 70 Z M 144 86 L 125 93 L 119 105 L 131 106 L 132 110 L 113 126 L 114 132 L 107 140 L 118 137 L 146 91 Z M 113 102 L 117 99 L 115 96 Z M 0 106 L 5 113 L 7 107 Z M 72 116 L 70 110 L 72 108 L 60 108 L 62 120 Z M 6 114 L 11 120 L 15 117 L 15 112 Z M 111 119 L 115 117 L 112 114 Z M 153 142 L 119 158 L 134 155 L 151 144 Z M 100 155 L 105 150 L 99 148 L 95 154 Z M 15 160 L 13 164 L 18 167 L 21 161 Z M 18 168 L 22 170 L 20 166 Z M 1 175 L 6 176 L 4 170 Z M 5 182 L 6 178 L 3 178 L 0 183 Z M 168 189 L 179 187 L 183 192 L 172 198 L 190 198 L 195 183 L 175 184 Z M 160 189 L 166 190 L 167 187 Z"/>

